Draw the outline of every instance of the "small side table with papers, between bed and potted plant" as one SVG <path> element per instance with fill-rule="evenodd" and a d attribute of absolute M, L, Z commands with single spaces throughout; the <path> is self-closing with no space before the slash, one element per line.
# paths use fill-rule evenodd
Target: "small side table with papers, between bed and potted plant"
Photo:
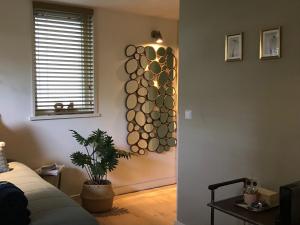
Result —
<path fill-rule="evenodd" d="M 61 174 L 62 170 L 65 166 L 64 165 L 57 165 L 56 163 L 49 164 L 42 166 L 35 171 L 39 174 L 42 178 L 47 179 L 48 177 L 58 177 L 58 181 L 56 182 L 56 186 L 60 189 L 61 187 Z"/>

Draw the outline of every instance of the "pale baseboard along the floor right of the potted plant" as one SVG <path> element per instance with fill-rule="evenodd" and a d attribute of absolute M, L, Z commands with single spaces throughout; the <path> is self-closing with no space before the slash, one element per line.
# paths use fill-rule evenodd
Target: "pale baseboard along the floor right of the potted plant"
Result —
<path fill-rule="evenodd" d="M 114 187 L 114 192 L 115 194 L 120 195 L 120 194 L 126 194 L 126 193 L 171 185 L 171 184 L 176 184 L 176 177 L 166 177 L 166 178 L 146 181 L 142 183 Z"/>

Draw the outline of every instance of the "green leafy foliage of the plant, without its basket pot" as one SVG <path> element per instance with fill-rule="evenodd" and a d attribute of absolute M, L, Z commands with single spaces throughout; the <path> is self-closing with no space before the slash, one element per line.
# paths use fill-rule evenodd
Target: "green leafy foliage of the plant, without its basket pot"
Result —
<path fill-rule="evenodd" d="M 88 138 L 71 130 L 73 137 L 85 149 L 70 155 L 74 165 L 85 168 L 90 184 L 108 184 L 107 173 L 113 171 L 120 158 L 129 159 L 131 153 L 115 148 L 113 139 L 106 132 L 97 129 Z"/>

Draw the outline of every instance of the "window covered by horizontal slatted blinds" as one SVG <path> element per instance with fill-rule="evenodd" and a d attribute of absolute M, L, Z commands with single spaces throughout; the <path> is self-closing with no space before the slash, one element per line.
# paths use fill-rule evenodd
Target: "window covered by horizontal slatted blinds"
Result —
<path fill-rule="evenodd" d="M 35 116 L 95 113 L 93 11 L 33 3 Z"/>

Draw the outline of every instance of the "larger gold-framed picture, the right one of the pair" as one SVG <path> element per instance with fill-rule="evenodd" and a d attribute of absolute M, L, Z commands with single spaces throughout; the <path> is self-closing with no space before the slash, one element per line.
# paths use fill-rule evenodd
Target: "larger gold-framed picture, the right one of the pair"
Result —
<path fill-rule="evenodd" d="M 276 59 L 281 56 L 281 27 L 261 30 L 260 59 Z"/>

